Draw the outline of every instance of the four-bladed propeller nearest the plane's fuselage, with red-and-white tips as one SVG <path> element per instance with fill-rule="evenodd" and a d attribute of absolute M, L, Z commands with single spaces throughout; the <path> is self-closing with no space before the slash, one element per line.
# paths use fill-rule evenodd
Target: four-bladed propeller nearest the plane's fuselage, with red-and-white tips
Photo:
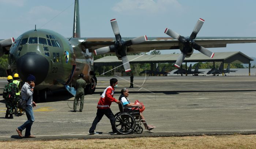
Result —
<path fill-rule="evenodd" d="M 136 37 L 134 39 L 125 41 L 124 39 L 121 38 L 116 19 L 110 20 L 110 23 L 111 23 L 114 35 L 116 37 L 116 41 L 114 42 L 114 45 L 95 49 L 94 53 L 95 55 L 101 55 L 110 51 L 111 52 L 115 51 L 118 59 L 122 60 L 123 62 L 125 72 L 129 72 L 131 71 L 131 67 L 129 64 L 129 60 L 126 56 L 127 47 L 133 44 L 139 44 L 139 43 L 143 43 L 144 41 L 147 41 L 147 36 L 144 35 L 144 36 Z"/>

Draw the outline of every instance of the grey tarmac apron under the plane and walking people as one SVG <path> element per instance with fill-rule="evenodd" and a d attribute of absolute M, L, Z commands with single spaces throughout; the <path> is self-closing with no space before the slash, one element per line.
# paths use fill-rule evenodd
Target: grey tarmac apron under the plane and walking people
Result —
<path fill-rule="evenodd" d="M 85 96 L 83 112 L 71 112 L 74 97 L 65 90 L 55 91 L 48 95 L 47 102 L 37 103 L 31 128 L 36 138 L 29 140 L 256 134 L 255 76 L 135 76 L 133 83 L 138 86 L 129 88 L 128 98 L 144 103 L 146 121 L 156 128 L 150 132 L 144 129 L 142 134 L 110 134 L 109 119 L 103 116 L 95 130 L 100 134 L 89 135 L 100 94 L 110 78 L 97 77 L 97 89 L 95 94 Z M 115 78 L 118 88 L 114 97 L 118 99 L 121 88 L 129 87 L 129 77 Z M 1 95 L 6 83 L 0 79 L 0 140 L 17 140 L 15 129 L 27 117 L 24 113 L 14 119 L 4 118 L 6 108 Z M 110 108 L 114 114 L 119 111 L 116 103 Z"/>

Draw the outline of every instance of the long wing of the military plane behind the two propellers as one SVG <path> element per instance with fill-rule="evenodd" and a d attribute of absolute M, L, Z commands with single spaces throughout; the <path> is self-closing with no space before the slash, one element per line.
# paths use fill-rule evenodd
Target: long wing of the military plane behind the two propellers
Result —
<path fill-rule="evenodd" d="M 82 44 L 85 48 L 93 52 L 95 49 L 113 45 L 115 38 L 81 38 Z M 79 40 L 81 40 L 79 39 Z M 122 38 L 124 40 L 131 40 L 131 38 Z M 127 52 L 140 53 L 148 52 L 150 50 L 166 50 L 166 49 L 179 49 L 179 41 L 170 37 L 148 37 L 148 40 L 127 47 Z M 204 48 L 219 48 L 226 47 L 227 44 L 238 43 L 256 43 L 256 37 L 197 37 L 195 43 L 202 45 Z M 110 51 L 108 53 L 114 53 Z"/>

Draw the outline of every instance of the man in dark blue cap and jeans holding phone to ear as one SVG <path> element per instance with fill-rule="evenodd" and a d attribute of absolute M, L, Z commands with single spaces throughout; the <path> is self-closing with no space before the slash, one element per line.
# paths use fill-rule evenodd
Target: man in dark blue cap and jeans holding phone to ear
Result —
<path fill-rule="evenodd" d="M 22 86 L 20 90 L 20 95 L 22 97 L 21 100 L 27 101 L 26 108 L 25 108 L 27 121 L 23 125 L 16 128 L 16 131 L 18 132 L 20 137 L 23 137 L 22 130 L 26 129 L 25 138 L 35 138 L 35 136 L 30 134 L 31 126 L 35 121 L 35 117 L 32 109 L 32 106 L 33 107 L 36 106 L 35 102 L 33 101 L 34 88 L 35 88 L 35 76 L 29 75 L 27 77 L 27 81 L 25 82 L 25 84 Z"/>

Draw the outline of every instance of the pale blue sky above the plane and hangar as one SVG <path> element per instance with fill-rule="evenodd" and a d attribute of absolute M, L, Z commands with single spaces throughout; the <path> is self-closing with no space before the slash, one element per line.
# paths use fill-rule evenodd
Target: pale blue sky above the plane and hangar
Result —
<path fill-rule="evenodd" d="M 82 37 L 114 37 L 111 19 L 117 19 L 122 37 L 168 37 L 165 28 L 190 36 L 199 18 L 205 22 L 198 37 L 256 37 L 255 0 L 80 0 L 79 4 Z M 0 0 L 0 14 L 0 39 L 17 38 L 35 24 L 71 37 L 74 0 Z M 256 57 L 254 43 L 209 50 Z M 161 51 L 173 52 L 180 53 Z"/>

